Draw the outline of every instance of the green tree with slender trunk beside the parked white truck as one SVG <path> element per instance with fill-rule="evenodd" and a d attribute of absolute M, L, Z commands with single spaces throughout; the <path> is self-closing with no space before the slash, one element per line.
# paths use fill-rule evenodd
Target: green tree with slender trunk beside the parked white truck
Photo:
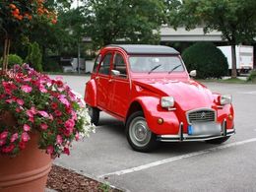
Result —
<path fill-rule="evenodd" d="M 175 28 L 184 25 L 187 30 L 196 26 L 204 26 L 204 32 L 217 30 L 231 45 L 232 73 L 235 78 L 236 59 L 235 45 L 251 43 L 256 36 L 256 1 L 255 0 L 166 0 L 176 2 L 169 6 L 168 24 Z M 171 5 L 171 3 L 170 3 Z"/>

